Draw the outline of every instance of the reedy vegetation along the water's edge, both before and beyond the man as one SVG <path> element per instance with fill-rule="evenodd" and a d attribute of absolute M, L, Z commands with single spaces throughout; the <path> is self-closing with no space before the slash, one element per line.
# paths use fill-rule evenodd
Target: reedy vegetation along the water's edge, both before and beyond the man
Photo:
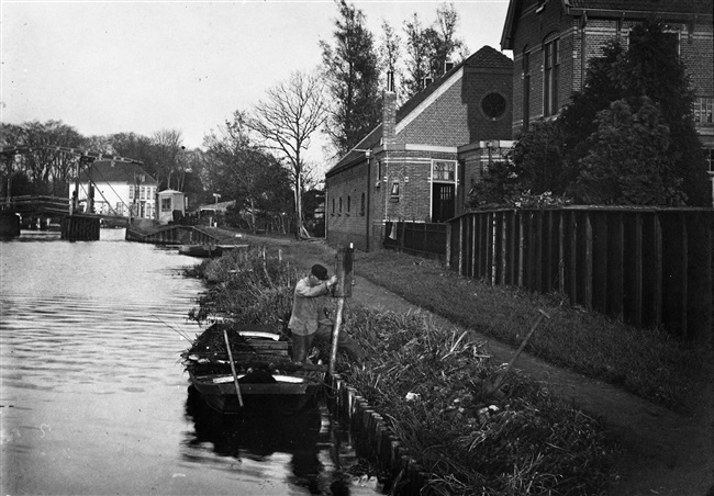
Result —
<path fill-rule="evenodd" d="M 211 288 L 191 316 L 280 326 L 303 263 L 320 256 L 315 252 L 298 263 L 283 246 L 280 257 L 277 248 L 252 249 L 191 269 Z M 345 312 L 343 330 L 368 358 L 356 364 L 341 357 L 337 371 L 414 453 L 429 494 L 605 493 L 614 444 L 596 419 L 513 371 L 495 388 L 504 371 L 486 343 L 425 314 L 378 313 L 352 300 Z"/>

